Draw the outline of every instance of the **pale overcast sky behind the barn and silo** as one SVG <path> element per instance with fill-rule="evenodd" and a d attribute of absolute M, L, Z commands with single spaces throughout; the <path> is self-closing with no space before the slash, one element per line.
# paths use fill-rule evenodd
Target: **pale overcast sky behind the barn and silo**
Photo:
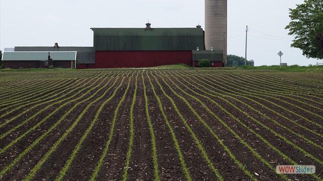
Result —
<path fill-rule="evenodd" d="M 280 63 L 316 64 L 291 48 L 293 37 L 285 30 L 289 8 L 303 0 L 228 1 L 228 54 L 245 56 L 256 66 Z M 15 46 L 93 46 L 90 28 L 204 28 L 202 0 L 1 0 L 0 50 Z"/>

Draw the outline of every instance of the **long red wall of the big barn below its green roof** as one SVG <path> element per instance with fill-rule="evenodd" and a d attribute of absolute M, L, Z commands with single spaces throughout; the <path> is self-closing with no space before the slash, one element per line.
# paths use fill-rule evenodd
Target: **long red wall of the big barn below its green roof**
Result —
<path fill-rule="evenodd" d="M 192 51 L 95 52 L 95 68 L 152 67 L 178 63 L 192 66 Z"/>

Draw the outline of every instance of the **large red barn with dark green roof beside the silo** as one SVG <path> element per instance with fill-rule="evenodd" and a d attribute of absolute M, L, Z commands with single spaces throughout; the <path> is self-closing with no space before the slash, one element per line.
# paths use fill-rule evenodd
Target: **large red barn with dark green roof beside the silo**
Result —
<path fill-rule="evenodd" d="M 196 66 L 211 58 L 222 66 L 223 52 L 204 51 L 204 31 L 197 28 L 91 28 L 94 32 L 95 68 L 152 67 L 184 63 Z M 203 52 L 203 53 L 201 53 Z M 195 62 L 195 63 L 194 63 Z"/>

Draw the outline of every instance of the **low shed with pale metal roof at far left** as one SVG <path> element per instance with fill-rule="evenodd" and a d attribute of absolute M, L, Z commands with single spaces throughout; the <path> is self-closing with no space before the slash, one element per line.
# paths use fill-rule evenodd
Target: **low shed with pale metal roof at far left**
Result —
<path fill-rule="evenodd" d="M 73 68 L 76 62 L 76 51 L 67 52 L 9 52 L 3 53 L 2 60 L 6 68 Z"/>

